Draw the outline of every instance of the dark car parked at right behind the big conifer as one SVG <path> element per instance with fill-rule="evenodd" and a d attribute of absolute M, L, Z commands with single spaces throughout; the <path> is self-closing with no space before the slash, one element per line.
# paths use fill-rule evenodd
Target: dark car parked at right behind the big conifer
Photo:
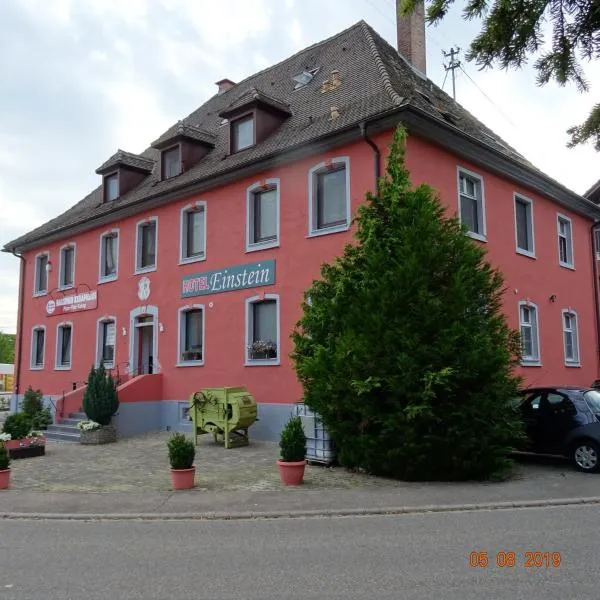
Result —
<path fill-rule="evenodd" d="M 523 390 L 523 450 L 569 457 L 580 471 L 600 470 L 600 390 L 543 387 Z"/>

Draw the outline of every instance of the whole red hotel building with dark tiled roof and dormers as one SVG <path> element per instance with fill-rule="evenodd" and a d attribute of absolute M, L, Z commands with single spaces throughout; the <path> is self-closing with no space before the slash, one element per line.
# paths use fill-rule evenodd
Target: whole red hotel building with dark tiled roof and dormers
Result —
<path fill-rule="evenodd" d="M 436 188 L 504 272 L 525 381 L 591 384 L 600 209 L 428 80 L 414 39 L 411 63 L 361 21 L 218 82 L 143 154 L 102 164 L 79 203 L 6 244 L 21 257 L 18 393 L 62 398 L 103 362 L 125 382 L 115 422 L 130 435 L 185 429 L 191 392 L 243 385 L 259 403 L 253 436 L 274 438 L 302 398 L 289 353 L 303 291 L 353 239 L 398 123 L 413 182 Z M 78 390 L 59 409 L 80 402 Z"/>

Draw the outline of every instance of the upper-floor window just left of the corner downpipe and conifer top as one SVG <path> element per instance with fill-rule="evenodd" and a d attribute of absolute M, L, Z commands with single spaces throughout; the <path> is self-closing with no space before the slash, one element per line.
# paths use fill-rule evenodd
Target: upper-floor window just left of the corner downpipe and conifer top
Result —
<path fill-rule="evenodd" d="M 350 227 L 350 159 L 341 156 L 308 172 L 308 235 Z"/>

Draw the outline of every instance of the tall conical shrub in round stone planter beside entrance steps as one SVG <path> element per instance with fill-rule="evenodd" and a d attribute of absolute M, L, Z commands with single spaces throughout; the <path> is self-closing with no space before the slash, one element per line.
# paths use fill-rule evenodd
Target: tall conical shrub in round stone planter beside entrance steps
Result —
<path fill-rule="evenodd" d="M 117 384 L 104 366 L 92 367 L 83 394 L 83 411 L 93 426 L 81 428 L 82 444 L 108 444 L 117 441 L 117 432 L 110 424 L 119 408 Z"/>

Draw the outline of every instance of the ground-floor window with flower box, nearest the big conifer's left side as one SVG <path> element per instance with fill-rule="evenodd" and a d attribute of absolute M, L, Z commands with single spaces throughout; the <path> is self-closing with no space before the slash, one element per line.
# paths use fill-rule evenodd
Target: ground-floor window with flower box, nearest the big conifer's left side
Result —
<path fill-rule="evenodd" d="M 280 364 L 279 315 L 278 294 L 246 298 L 246 366 Z"/>

